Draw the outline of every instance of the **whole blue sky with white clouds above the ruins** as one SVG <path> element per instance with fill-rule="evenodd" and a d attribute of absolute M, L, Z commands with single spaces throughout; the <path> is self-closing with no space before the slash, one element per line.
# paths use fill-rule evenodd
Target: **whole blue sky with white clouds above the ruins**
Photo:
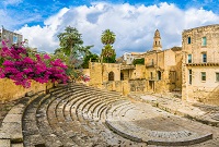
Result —
<path fill-rule="evenodd" d="M 101 34 L 116 35 L 117 57 L 150 50 L 154 30 L 163 49 L 181 46 L 183 29 L 219 24 L 219 0 L 1 0 L 0 25 L 28 39 L 31 47 L 54 52 L 57 35 L 76 27 L 84 45 L 100 53 Z"/>

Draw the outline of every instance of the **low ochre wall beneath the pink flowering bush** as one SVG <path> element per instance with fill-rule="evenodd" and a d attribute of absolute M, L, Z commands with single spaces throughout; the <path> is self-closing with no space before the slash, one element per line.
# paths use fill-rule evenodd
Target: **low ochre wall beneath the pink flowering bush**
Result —
<path fill-rule="evenodd" d="M 23 88 L 13 83 L 13 81 L 8 78 L 0 79 L 0 101 L 11 101 L 23 97 L 27 91 L 42 91 L 53 87 L 53 83 L 41 84 L 37 82 L 32 82 L 30 88 Z"/>

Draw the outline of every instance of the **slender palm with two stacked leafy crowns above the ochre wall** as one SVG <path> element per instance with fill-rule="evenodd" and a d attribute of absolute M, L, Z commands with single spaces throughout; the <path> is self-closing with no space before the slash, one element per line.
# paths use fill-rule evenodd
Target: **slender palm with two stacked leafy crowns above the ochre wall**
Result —
<path fill-rule="evenodd" d="M 115 42 L 115 38 L 116 35 L 110 29 L 106 29 L 102 33 L 101 41 L 104 45 L 104 47 L 102 49 L 101 57 L 103 58 L 103 62 L 107 63 L 116 62 L 116 52 L 112 46 Z"/>

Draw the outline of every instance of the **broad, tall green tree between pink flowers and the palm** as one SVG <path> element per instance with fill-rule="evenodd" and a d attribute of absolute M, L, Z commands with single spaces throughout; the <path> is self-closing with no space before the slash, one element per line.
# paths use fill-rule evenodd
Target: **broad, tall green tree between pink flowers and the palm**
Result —
<path fill-rule="evenodd" d="M 66 62 L 68 65 L 67 74 L 72 78 L 82 75 L 82 71 L 78 70 L 83 58 L 90 54 L 90 48 L 93 46 L 83 46 L 81 34 L 76 27 L 68 26 L 64 33 L 58 34 L 60 48 L 55 50 L 55 57 Z"/>

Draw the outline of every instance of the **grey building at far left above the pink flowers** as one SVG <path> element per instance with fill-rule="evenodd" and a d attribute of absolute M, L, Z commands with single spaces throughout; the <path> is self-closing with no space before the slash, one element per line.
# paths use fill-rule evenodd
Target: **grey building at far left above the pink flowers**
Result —
<path fill-rule="evenodd" d="M 2 40 L 8 40 L 9 45 L 16 45 L 22 42 L 23 36 L 21 34 L 7 30 L 2 27 L 0 29 L 0 46 Z"/>

